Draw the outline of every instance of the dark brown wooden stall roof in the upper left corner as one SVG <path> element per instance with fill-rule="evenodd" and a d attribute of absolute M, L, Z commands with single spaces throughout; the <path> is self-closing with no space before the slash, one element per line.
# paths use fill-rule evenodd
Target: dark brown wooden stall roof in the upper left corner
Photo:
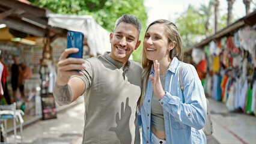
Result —
<path fill-rule="evenodd" d="M 66 29 L 52 28 L 47 25 L 46 14 L 48 13 L 53 12 L 26 0 L 1 0 L 0 2 L 0 24 L 7 25 L 15 37 L 26 37 L 26 34 L 29 34 L 53 38 L 64 34 Z"/>

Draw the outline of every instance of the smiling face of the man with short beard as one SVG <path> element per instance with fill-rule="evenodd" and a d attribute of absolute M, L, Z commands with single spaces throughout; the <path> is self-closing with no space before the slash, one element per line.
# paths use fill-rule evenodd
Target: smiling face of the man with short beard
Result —
<path fill-rule="evenodd" d="M 133 50 L 136 50 L 141 43 L 141 41 L 138 41 L 138 30 L 136 26 L 125 22 L 121 22 L 109 37 L 111 58 L 124 64 L 128 61 Z"/>

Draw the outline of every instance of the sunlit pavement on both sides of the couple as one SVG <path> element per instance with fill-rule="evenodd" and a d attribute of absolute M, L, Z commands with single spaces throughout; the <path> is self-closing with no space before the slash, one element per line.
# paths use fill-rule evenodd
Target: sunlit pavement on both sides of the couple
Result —
<path fill-rule="evenodd" d="M 225 104 L 209 98 L 213 130 L 207 143 L 239 144 L 256 142 L 256 117 L 242 112 L 228 112 Z M 30 144 L 81 144 L 84 127 L 84 103 L 58 113 L 57 119 L 38 121 L 25 127 L 23 143 Z M 20 134 L 19 131 L 17 133 Z M 8 143 L 13 143 L 13 135 Z M 17 137 L 20 143 L 20 136 Z"/>

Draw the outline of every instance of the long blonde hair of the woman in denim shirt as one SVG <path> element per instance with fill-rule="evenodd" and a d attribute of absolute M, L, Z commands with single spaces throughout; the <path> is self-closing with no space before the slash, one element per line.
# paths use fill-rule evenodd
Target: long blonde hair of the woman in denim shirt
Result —
<path fill-rule="evenodd" d="M 180 37 L 180 34 L 178 33 L 177 26 L 175 26 L 174 23 L 169 22 L 169 20 L 159 19 L 159 20 L 155 20 L 154 22 L 150 23 L 150 25 L 148 25 L 148 28 L 150 28 L 150 26 L 152 26 L 156 23 L 160 23 L 165 26 L 166 36 L 168 37 L 169 43 L 171 43 L 172 41 L 176 42 L 175 47 L 169 51 L 169 58 L 173 59 L 175 56 L 176 58 L 178 58 L 179 61 L 183 61 L 183 58 L 184 58 L 183 47 L 182 47 L 181 37 Z M 148 28 L 147 28 L 146 32 L 148 31 Z M 144 38 L 145 38 L 145 35 L 144 35 Z M 139 101 L 139 107 L 141 107 L 144 97 L 145 97 L 145 90 L 147 88 L 148 77 L 150 75 L 152 65 L 153 65 L 153 61 L 151 61 L 150 59 L 147 59 L 147 56 L 145 55 L 145 49 L 143 47 L 143 50 L 142 50 L 142 67 L 143 67 L 142 82 L 143 82 L 143 85 L 142 85 L 142 95 L 141 95 L 141 98 Z"/>

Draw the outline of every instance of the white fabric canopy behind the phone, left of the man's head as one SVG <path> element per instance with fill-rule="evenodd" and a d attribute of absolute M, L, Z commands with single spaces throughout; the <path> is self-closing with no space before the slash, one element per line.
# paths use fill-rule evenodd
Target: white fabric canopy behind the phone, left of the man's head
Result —
<path fill-rule="evenodd" d="M 92 16 L 75 16 L 63 14 L 47 14 L 48 25 L 69 31 L 82 32 L 90 47 L 90 55 L 103 54 L 111 51 L 110 32 L 102 28 Z"/>

